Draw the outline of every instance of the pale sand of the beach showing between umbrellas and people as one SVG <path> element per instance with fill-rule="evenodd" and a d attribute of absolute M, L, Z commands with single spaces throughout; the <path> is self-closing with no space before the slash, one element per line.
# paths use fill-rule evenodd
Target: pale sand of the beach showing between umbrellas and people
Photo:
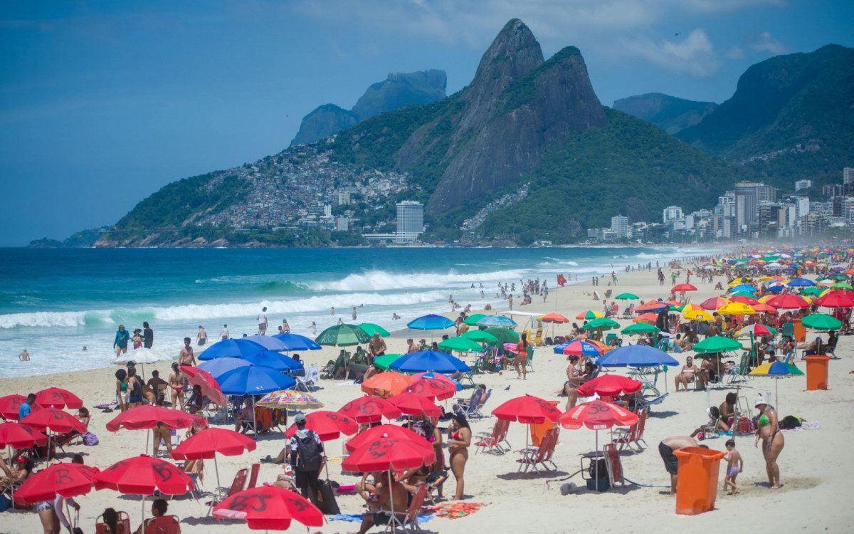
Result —
<path fill-rule="evenodd" d="M 509 281 L 509 280 L 508 280 Z M 684 281 L 684 278 L 680 281 Z M 548 280 L 553 285 L 553 280 Z M 600 292 L 607 289 L 615 290 L 615 294 L 629 291 L 640 296 L 643 300 L 666 298 L 668 287 L 660 287 L 654 269 L 651 272 L 619 273 L 619 285 L 607 287 L 602 279 Z M 699 284 L 693 279 L 692 283 L 699 290 L 690 294 L 693 302 L 702 302 L 705 298 L 716 296 L 720 291 L 712 290 L 710 284 Z M 524 312 L 553 312 L 556 311 L 567 317 L 574 318 L 576 314 L 594 309 L 601 311 L 601 302 L 593 300 L 591 292 L 594 288 L 589 281 L 578 285 L 569 285 L 562 289 L 551 290 L 547 302 L 541 302 L 540 296 L 534 296 L 534 302 L 528 306 L 514 306 Z M 462 302 L 465 305 L 466 302 Z M 620 302 L 624 307 L 625 302 Z M 578 321 L 581 323 L 581 321 Z M 623 326 L 630 324 L 628 320 L 620 320 Z M 448 331 L 449 332 L 449 331 Z M 555 332 L 569 332 L 568 326 L 556 326 Z M 427 337 L 424 333 L 412 332 L 412 337 Z M 441 334 L 439 334 L 441 337 Z M 389 353 L 405 352 L 406 332 L 389 337 Z M 629 337 L 626 337 L 628 340 Z M 61 339 L 57 340 L 61 343 Z M 658 454 L 658 443 L 665 437 L 687 435 L 698 425 L 707 420 L 705 409 L 717 406 L 730 388 L 706 391 L 674 392 L 673 377 L 676 369 L 670 369 L 666 378 L 658 382 L 662 392 L 670 391 L 670 395 L 660 405 L 653 407 L 652 416 L 646 423 L 646 448 L 640 453 L 624 453 L 622 455 L 625 477 L 638 484 L 626 484 L 604 493 L 586 490 L 580 475 L 572 478 L 580 488 L 576 493 L 561 495 L 559 479 L 579 469 L 580 457 L 583 453 L 594 450 L 594 431 L 587 429 L 560 431 L 559 445 L 555 450 L 553 461 L 559 467 L 558 473 L 527 473 L 517 474 L 518 454 L 515 451 L 506 455 L 475 454 L 474 447 L 470 449 L 469 461 L 465 467 L 465 502 L 481 502 L 484 504 L 476 513 L 459 519 L 436 518 L 422 525 L 429 532 L 720 532 L 720 531 L 851 531 L 851 510 L 845 502 L 850 502 L 854 465 L 848 458 L 851 450 L 851 437 L 854 437 L 854 415 L 850 407 L 854 394 L 851 386 L 854 384 L 854 350 L 851 338 L 842 337 L 839 341 L 838 360 L 830 361 L 829 389 L 806 391 L 804 377 L 780 380 L 781 417 L 789 414 L 798 415 L 805 420 L 818 421 L 818 430 L 787 431 L 785 433 L 785 449 L 783 449 L 779 465 L 781 469 L 782 487 L 770 490 L 765 475 L 763 455 L 760 449 L 754 447 L 753 437 L 736 439 L 737 449 L 744 457 L 745 468 L 740 474 L 740 493 L 729 496 L 721 490 L 723 472 L 721 468 L 720 482 L 716 509 L 698 516 L 682 516 L 675 513 L 675 499 L 664 487 L 670 484 L 670 478 L 664 470 L 664 465 Z M 338 349 L 325 347 L 322 350 L 301 353 L 307 362 L 317 362 L 322 365 L 333 359 Z M 686 355 L 672 354 L 680 362 Z M 471 362 L 471 358 L 467 361 Z M 38 360 L 22 362 L 20 365 L 38 366 Z M 516 378 L 516 373 L 505 372 L 478 375 L 477 382 L 486 384 L 493 390 L 485 411 L 491 411 L 515 396 L 529 393 L 541 396 L 547 400 L 559 400 L 559 408 L 563 411 L 565 399 L 558 397 L 556 391 L 564 383 L 564 370 L 567 361 L 563 355 L 553 354 L 550 347 L 535 349 L 534 370 L 528 373 L 527 380 Z M 796 364 L 802 370 L 804 363 Z M 160 370 L 161 377 L 168 373 L 168 364 L 146 366 L 148 375 L 152 369 Z M 79 373 L 65 373 L 48 376 L 33 376 L 0 380 L 0 395 L 19 393 L 26 395 L 31 391 L 41 390 L 49 386 L 58 386 L 73 391 L 80 396 L 85 406 L 92 407 L 102 402 L 108 402 L 114 396 L 114 372 L 116 367 L 103 368 Z M 625 373 L 625 369 L 611 369 L 611 373 Z M 322 402 L 325 409 L 336 410 L 345 402 L 361 396 L 359 385 L 342 385 L 333 380 L 323 380 L 322 389 L 313 392 Z M 775 383 L 773 378 L 752 378 L 742 389 L 740 395 L 746 396 L 752 406 L 757 393 L 763 392 L 773 399 Z M 465 390 L 461 396 L 468 396 Z M 449 408 L 449 403 L 447 407 Z M 61 459 L 70 459 L 74 453 L 85 455 L 87 464 L 96 467 L 108 467 L 115 461 L 144 452 L 146 431 L 109 432 L 105 423 L 114 418 L 117 413 L 105 414 L 91 408 L 91 431 L 97 434 L 100 444 L 96 447 L 72 445 L 66 447 L 67 454 L 60 455 Z M 291 418 L 292 420 L 292 418 Z M 475 420 L 471 423 L 472 431 L 489 431 L 494 418 Z M 513 449 L 520 449 L 525 443 L 526 425 L 512 423 L 509 441 Z M 600 431 L 600 444 L 607 440 L 607 431 Z M 726 437 L 713 437 L 702 443 L 711 449 L 724 450 Z M 284 439 L 278 432 L 272 432 L 261 437 L 258 449 L 241 456 L 219 456 L 219 474 L 223 485 L 231 483 L 234 473 L 242 467 L 258 461 L 266 455 L 277 455 L 284 446 Z M 325 443 L 327 455 L 330 458 L 340 457 L 342 443 L 340 441 Z M 213 490 L 215 477 L 213 461 L 207 461 L 207 472 L 203 490 Z M 330 478 L 340 484 L 354 484 L 358 478 L 343 475 L 340 462 L 330 461 Z M 281 467 L 262 464 L 260 467 L 260 482 L 272 482 L 282 472 Z M 445 494 L 453 493 L 448 486 L 453 487 L 453 476 L 448 480 Z M 80 496 L 77 501 L 81 505 L 80 519 L 84 531 L 95 530 L 95 519 L 104 508 L 112 507 L 130 513 L 134 528 L 139 523 L 140 501 L 137 496 L 122 496 L 112 490 L 91 491 L 88 495 Z M 364 502 L 359 496 L 338 496 L 337 502 L 342 513 L 361 513 Z M 249 531 L 242 522 L 219 522 L 213 518 L 205 518 L 207 507 L 202 502 L 181 496 L 170 501 L 169 513 L 177 514 L 181 519 L 184 532 L 243 532 Z M 292 531 L 301 531 L 304 527 L 299 524 L 291 525 Z M 358 525 L 342 521 L 332 521 L 327 525 L 310 531 L 347 532 L 357 531 Z M 29 534 L 41 531 L 38 516 L 32 512 L 9 510 L 0 513 L 0 531 Z M 374 528 L 372 531 L 379 531 Z"/>

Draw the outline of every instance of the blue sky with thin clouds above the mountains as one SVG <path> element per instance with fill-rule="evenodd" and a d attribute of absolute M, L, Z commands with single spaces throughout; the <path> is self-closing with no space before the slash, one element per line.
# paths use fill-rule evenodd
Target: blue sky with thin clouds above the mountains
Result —
<path fill-rule="evenodd" d="M 722 102 L 746 67 L 854 45 L 854 2 L 294 0 L 0 3 L 0 246 L 112 224 L 173 180 L 290 144 L 322 103 L 441 68 L 448 94 L 506 21 L 576 45 L 602 103 Z"/>

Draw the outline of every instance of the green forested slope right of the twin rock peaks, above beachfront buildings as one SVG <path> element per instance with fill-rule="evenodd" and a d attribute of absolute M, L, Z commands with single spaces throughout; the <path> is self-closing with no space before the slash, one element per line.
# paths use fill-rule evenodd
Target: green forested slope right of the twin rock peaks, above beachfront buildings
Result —
<path fill-rule="evenodd" d="M 646 121 L 606 109 L 609 126 L 577 132 L 530 177 L 528 197 L 489 214 L 485 237 L 575 240 L 613 215 L 655 222 L 670 204 L 711 209 L 754 173 L 708 156 Z"/>

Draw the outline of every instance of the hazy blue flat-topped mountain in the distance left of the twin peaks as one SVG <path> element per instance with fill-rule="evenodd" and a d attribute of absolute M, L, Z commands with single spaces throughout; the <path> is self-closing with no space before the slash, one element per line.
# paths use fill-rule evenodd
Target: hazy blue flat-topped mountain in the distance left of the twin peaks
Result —
<path fill-rule="evenodd" d="M 387 79 L 368 87 L 353 109 L 324 104 L 307 114 L 290 146 L 317 143 L 386 111 L 436 102 L 445 97 L 446 85 L 447 75 L 443 70 L 389 73 Z"/>

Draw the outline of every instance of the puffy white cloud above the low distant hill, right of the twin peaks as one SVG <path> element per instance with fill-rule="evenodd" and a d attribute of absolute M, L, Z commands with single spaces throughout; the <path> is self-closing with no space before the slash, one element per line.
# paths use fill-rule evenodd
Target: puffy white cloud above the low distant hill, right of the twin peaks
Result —
<path fill-rule="evenodd" d="M 701 28 L 688 33 L 681 41 L 632 38 L 624 39 L 622 44 L 625 52 L 632 56 L 697 78 L 709 77 L 721 67 L 711 40 Z"/>

